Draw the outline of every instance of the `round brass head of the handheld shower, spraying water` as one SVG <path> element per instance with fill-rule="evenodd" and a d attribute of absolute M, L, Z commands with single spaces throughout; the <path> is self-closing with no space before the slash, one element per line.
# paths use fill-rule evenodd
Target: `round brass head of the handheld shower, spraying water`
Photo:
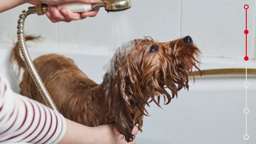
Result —
<path fill-rule="evenodd" d="M 131 8 L 131 0 L 103 0 L 105 10 L 116 12 Z"/>

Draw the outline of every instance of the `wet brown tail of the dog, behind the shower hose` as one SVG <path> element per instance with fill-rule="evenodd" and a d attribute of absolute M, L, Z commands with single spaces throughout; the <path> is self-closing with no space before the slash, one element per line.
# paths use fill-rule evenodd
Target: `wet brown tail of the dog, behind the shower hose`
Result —
<path fill-rule="evenodd" d="M 25 37 L 25 40 L 26 41 L 30 41 L 30 40 L 35 40 L 35 39 L 38 39 L 40 38 L 39 36 L 38 37 L 34 37 L 34 36 L 26 36 Z M 20 51 L 19 51 L 19 44 L 18 42 L 15 44 L 15 47 L 12 49 L 11 51 L 11 55 L 10 55 L 10 64 L 13 68 L 13 71 L 14 71 L 14 65 L 17 64 L 18 65 L 18 74 L 17 74 L 17 77 L 19 77 L 20 75 L 20 71 L 21 71 L 21 68 L 24 69 L 25 68 L 25 63 L 23 61 L 23 59 L 21 58 L 20 56 Z"/>

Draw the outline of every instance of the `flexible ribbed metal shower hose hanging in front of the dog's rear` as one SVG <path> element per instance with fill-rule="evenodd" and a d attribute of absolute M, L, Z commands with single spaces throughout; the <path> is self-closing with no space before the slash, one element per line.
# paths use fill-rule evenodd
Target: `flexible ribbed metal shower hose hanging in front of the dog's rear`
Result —
<path fill-rule="evenodd" d="M 39 90 L 42 98 L 45 100 L 45 103 L 48 107 L 51 109 L 55 110 L 56 112 L 59 112 L 57 109 L 55 103 L 53 102 L 50 94 L 48 93 L 47 89 L 45 88 L 44 83 L 42 82 L 41 77 L 39 76 L 32 59 L 28 53 L 27 50 L 27 45 L 25 41 L 25 35 L 24 35 L 24 22 L 27 16 L 30 14 L 28 11 L 22 11 L 23 14 L 19 16 L 18 20 L 18 26 L 17 26 L 17 34 L 18 34 L 18 43 L 19 43 L 19 48 L 22 53 L 22 57 L 24 59 L 24 62 L 27 66 L 28 72 L 30 73 L 30 76 L 32 77 L 33 81 L 36 84 L 37 89 Z"/>

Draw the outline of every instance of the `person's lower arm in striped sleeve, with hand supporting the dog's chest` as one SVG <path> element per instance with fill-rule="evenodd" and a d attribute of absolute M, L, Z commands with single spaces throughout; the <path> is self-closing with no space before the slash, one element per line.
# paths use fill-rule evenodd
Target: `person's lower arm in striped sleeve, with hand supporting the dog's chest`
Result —
<path fill-rule="evenodd" d="M 137 133 L 134 127 L 132 134 Z M 84 126 L 16 94 L 0 72 L 0 143 L 127 144 L 122 137 L 113 124 Z"/>

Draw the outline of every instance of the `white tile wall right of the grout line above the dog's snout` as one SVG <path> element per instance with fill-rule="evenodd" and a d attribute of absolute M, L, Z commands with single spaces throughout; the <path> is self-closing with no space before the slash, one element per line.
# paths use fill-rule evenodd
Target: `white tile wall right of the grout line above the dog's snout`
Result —
<path fill-rule="evenodd" d="M 255 39 L 255 0 L 182 0 L 181 35 L 191 35 L 204 56 L 245 56 L 245 9 L 247 10 L 248 57 Z"/>

